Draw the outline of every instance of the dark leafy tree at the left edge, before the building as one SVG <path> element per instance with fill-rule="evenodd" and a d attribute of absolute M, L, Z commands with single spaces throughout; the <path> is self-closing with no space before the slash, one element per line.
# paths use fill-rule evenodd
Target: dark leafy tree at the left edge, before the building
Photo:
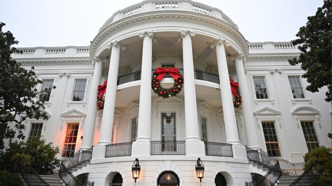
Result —
<path fill-rule="evenodd" d="M 27 118 L 48 119 L 42 112 L 44 101 L 38 99 L 40 92 L 36 89 L 42 81 L 35 78 L 34 67 L 26 70 L 11 58 L 11 54 L 20 51 L 11 47 L 18 41 L 10 31 L 3 32 L 5 25 L 0 22 L 0 123 L 13 122 L 15 128 L 0 129 L 0 150 L 4 149 L 4 138 L 24 139 L 23 121 Z"/>

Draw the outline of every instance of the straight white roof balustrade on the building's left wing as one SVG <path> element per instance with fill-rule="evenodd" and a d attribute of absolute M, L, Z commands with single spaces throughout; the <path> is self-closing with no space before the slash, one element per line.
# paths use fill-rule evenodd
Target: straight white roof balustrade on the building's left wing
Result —
<path fill-rule="evenodd" d="M 12 58 L 89 57 L 89 46 L 17 48 Z"/>

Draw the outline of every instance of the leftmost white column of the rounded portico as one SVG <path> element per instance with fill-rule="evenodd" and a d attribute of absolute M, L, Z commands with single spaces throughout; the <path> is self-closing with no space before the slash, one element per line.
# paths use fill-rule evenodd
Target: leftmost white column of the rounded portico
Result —
<path fill-rule="evenodd" d="M 96 114 L 97 114 L 97 94 L 98 85 L 102 77 L 103 59 L 101 57 L 94 57 L 93 64 L 95 64 L 94 77 L 90 87 L 89 98 L 87 101 L 87 114 L 83 128 L 83 141 L 81 150 L 86 150 L 92 146 L 94 140 Z"/>

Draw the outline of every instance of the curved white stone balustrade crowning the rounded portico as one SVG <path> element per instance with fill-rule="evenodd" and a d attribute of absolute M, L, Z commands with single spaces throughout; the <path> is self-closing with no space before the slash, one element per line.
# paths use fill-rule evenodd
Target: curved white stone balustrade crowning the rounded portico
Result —
<path fill-rule="evenodd" d="M 226 16 L 221 10 L 217 8 L 212 8 L 206 6 L 201 3 L 192 2 L 190 0 L 173 0 L 173 1 L 165 1 L 165 0 L 148 0 L 142 3 L 127 7 L 123 10 L 115 12 L 112 17 L 110 17 L 105 24 L 99 29 L 99 32 L 109 26 L 110 24 L 123 19 L 125 17 L 139 14 L 139 13 L 146 13 L 146 12 L 154 12 L 154 11 L 186 11 L 186 12 L 197 12 L 201 14 L 206 14 L 209 16 L 216 17 L 221 19 L 235 29 L 238 29 L 237 25 L 228 17 Z"/>

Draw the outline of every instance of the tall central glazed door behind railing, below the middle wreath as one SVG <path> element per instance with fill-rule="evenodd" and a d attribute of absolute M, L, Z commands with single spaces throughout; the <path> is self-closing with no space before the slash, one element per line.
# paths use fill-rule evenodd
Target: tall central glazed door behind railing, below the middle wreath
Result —
<path fill-rule="evenodd" d="M 166 141 L 176 141 L 176 120 L 175 113 L 161 114 L 161 140 L 162 151 L 176 151 L 175 143 L 167 143 Z"/>

